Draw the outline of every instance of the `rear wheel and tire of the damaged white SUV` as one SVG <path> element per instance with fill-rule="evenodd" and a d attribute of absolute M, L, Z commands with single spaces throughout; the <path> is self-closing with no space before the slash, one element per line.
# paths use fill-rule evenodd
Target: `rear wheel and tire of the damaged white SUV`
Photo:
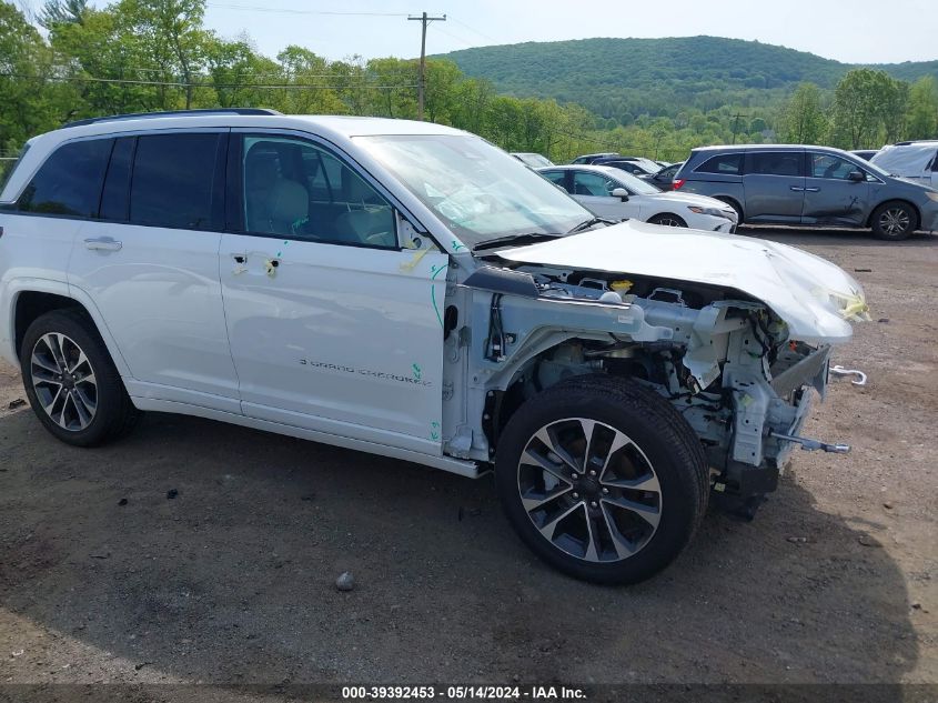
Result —
<path fill-rule="evenodd" d="M 94 323 L 79 310 L 37 318 L 23 335 L 20 362 L 33 412 L 68 444 L 102 444 L 140 416 Z"/>

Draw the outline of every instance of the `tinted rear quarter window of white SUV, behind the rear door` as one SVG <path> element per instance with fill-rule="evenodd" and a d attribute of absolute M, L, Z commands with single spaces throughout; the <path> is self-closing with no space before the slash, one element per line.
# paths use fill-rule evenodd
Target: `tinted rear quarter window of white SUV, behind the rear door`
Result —
<path fill-rule="evenodd" d="M 93 218 L 112 139 L 91 139 L 59 147 L 46 160 L 17 203 L 22 212 Z"/>

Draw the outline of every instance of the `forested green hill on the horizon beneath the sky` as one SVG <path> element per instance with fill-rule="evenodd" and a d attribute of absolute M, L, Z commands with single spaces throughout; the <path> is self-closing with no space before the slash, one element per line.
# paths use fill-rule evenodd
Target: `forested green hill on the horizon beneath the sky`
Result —
<path fill-rule="evenodd" d="M 855 66 L 757 41 L 718 37 L 582 39 L 481 47 L 442 54 L 500 92 L 577 102 L 624 124 L 725 104 L 776 103 L 800 81 L 831 89 Z M 938 61 L 876 66 L 914 81 Z"/>

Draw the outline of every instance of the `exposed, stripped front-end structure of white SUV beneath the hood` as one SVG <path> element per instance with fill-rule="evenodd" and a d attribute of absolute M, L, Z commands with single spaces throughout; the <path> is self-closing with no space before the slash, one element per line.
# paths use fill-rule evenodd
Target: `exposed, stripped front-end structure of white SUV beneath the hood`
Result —
<path fill-rule="evenodd" d="M 799 435 L 814 391 L 826 394 L 831 344 L 820 334 L 797 339 L 746 291 L 522 261 L 480 268 L 454 288 L 472 325 L 447 338 L 446 373 L 464 363 L 470 411 L 447 453 L 491 460 L 500 429 L 523 402 L 596 373 L 631 378 L 666 398 L 700 439 L 717 500 L 749 516 L 776 489 L 795 446 L 849 449 Z M 841 298 L 840 320 L 861 314 L 858 287 Z M 478 426 L 473 396 L 483 399 Z"/>

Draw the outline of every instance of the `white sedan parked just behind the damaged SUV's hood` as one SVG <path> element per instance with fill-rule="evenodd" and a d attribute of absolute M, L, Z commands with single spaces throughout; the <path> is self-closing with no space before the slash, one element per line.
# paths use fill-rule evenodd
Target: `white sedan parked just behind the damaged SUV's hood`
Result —
<path fill-rule="evenodd" d="M 663 193 L 647 181 L 607 165 L 555 165 L 537 172 L 601 218 L 712 232 L 736 229 L 736 211 L 725 202 L 702 195 Z"/>

